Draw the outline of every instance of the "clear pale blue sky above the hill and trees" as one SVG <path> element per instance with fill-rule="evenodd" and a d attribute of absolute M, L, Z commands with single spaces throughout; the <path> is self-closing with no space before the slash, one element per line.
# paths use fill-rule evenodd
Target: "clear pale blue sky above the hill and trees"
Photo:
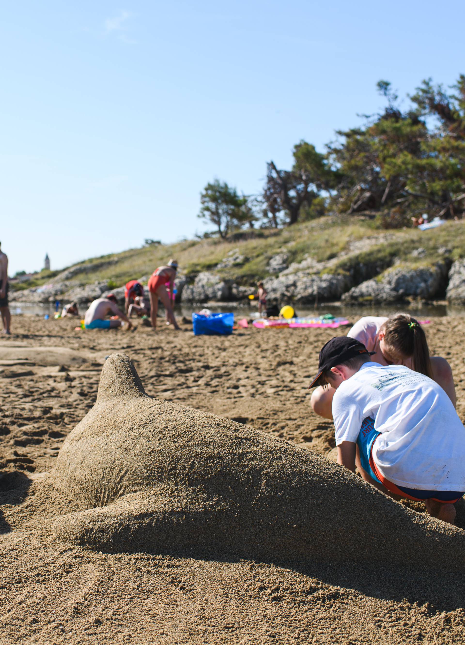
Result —
<path fill-rule="evenodd" d="M 10 274 L 204 230 L 218 177 L 260 190 L 400 95 L 465 71 L 465 4 L 431 0 L 4 3 L 0 241 Z"/>

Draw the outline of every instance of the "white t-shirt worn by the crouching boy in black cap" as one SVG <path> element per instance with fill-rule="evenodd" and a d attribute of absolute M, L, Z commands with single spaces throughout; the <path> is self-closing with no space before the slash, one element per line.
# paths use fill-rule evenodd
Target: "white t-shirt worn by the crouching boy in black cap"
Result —
<path fill-rule="evenodd" d="M 366 362 L 333 398 L 336 446 L 356 442 L 366 417 L 380 473 L 397 486 L 465 491 L 465 428 L 444 390 L 403 365 Z"/>

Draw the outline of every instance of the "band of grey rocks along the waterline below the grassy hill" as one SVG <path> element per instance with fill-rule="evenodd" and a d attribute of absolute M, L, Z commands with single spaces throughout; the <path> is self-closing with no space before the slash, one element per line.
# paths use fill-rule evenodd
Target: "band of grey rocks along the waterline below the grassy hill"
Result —
<path fill-rule="evenodd" d="M 379 238 L 377 242 L 379 244 Z M 307 257 L 300 263 L 288 265 L 286 253 L 274 255 L 267 267 L 270 275 L 263 279 L 268 292 L 267 302 L 302 306 L 327 301 L 360 305 L 446 299 L 448 303 L 465 304 L 465 259 L 453 261 L 449 249 L 438 249 L 441 259 L 432 264 L 422 263 L 422 248 L 411 253 L 411 262 L 400 263 L 395 257 L 384 257 L 378 244 L 370 249 L 367 257 L 366 243 L 363 257 L 352 248 L 351 252 L 340 253 L 330 261 L 320 263 Z M 245 258 L 234 251 L 212 270 L 178 275 L 176 302 L 247 301 L 249 294 L 256 292 L 256 282 L 249 279 L 244 284 L 243 277 L 234 275 L 234 269 L 244 261 Z M 10 299 L 30 304 L 56 300 L 86 304 L 111 292 L 122 302 L 123 286 L 110 288 L 109 281 L 104 280 L 85 283 L 85 273 L 96 268 L 98 263 L 74 266 L 59 273 L 49 284 L 12 291 Z M 139 277 L 142 284 L 147 284 L 147 280 L 147 275 Z"/>

